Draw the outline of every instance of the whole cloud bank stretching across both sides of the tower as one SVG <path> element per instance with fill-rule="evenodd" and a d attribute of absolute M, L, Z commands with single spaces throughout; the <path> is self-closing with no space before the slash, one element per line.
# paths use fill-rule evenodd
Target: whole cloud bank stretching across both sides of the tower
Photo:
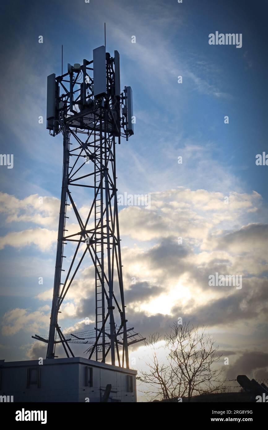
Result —
<path fill-rule="evenodd" d="M 15 209 L 9 209 L 5 197 L 5 213 L 10 217 L 12 212 L 14 221 L 23 222 L 20 217 L 24 211 L 30 220 L 38 210 L 37 196 L 30 197 L 15 200 Z M 136 332 L 145 337 L 155 331 L 163 333 L 178 317 L 226 333 L 231 326 L 236 326 L 239 332 L 245 321 L 253 326 L 267 321 L 268 279 L 264 276 L 267 267 L 263 245 L 267 225 L 243 225 L 258 211 L 261 196 L 256 192 L 231 192 L 228 198 L 226 204 L 223 193 L 179 187 L 151 193 L 151 207 L 129 206 L 119 212 L 121 237 L 126 238 L 126 243 L 129 238 L 137 242 L 133 245 L 130 241 L 128 246 L 122 247 L 126 317 L 128 325 L 134 326 Z M 50 211 L 49 204 L 56 205 L 55 200 L 48 200 L 46 204 L 46 209 L 40 213 L 44 219 L 54 216 L 55 210 Z M 82 206 L 83 216 L 87 210 Z M 49 219 L 43 225 L 46 222 Z M 67 228 L 68 234 L 79 231 L 72 218 Z M 55 243 L 56 236 L 55 230 L 37 227 L 8 233 L 0 238 L 0 246 L 20 248 L 34 244 L 45 251 Z M 74 268 L 83 249 L 81 245 Z M 74 247 L 68 245 L 66 267 L 73 253 Z M 249 273 L 253 267 L 255 272 Z M 241 273 L 243 288 L 209 286 L 208 276 L 216 271 Z M 136 283 L 132 282 L 133 278 Z M 116 280 L 114 293 L 119 296 Z M 49 304 L 34 312 L 16 309 L 6 313 L 3 335 L 48 329 L 52 289 L 41 292 L 37 298 Z M 95 270 L 89 255 L 81 264 L 61 310 L 59 320 L 65 333 L 85 331 L 94 326 Z M 254 328 L 252 330 L 254 332 Z M 34 356 L 34 349 L 29 354 Z"/>

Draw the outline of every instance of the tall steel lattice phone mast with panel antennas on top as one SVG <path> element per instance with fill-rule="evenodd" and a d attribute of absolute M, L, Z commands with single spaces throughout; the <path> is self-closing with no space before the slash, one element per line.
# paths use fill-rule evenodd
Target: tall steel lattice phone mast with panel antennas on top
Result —
<path fill-rule="evenodd" d="M 74 356 L 58 314 L 80 264 L 89 256 L 95 267 L 95 342 L 89 358 L 105 362 L 109 354 L 113 365 L 116 357 L 121 365 L 122 347 L 122 366 L 125 362 L 129 367 L 128 344 L 138 340 L 128 342 L 126 327 L 115 148 L 121 135 L 128 139 L 133 134 L 132 90 L 125 87 L 120 92 L 119 54 L 115 51 L 111 57 L 105 51 L 105 46 L 94 49 L 92 61 L 68 64 L 68 73 L 51 74 L 47 81 L 47 129 L 53 136 L 63 135 L 63 173 L 49 336 L 36 338 L 47 342 L 47 359 L 55 357 L 57 343 L 67 356 Z M 86 220 L 75 203 L 79 187 L 90 200 Z M 68 206 L 77 222 L 72 234 L 66 228 Z M 74 249 L 62 269 L 67 244 Z"/>

